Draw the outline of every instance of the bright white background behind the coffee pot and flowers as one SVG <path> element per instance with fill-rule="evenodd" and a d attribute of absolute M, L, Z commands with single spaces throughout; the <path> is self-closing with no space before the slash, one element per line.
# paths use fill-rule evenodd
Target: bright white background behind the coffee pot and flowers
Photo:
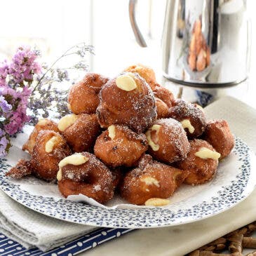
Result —
<path fill-rule="evenodd" d="M 128 65 L 141 62 L 154 67 L 161 77 L 160 43 L 166 0 L 137 2 L 137 21 L 148 48 L 140 48 L 135 42 L 128 17 L 128 0 L 1 1 L 0 58 L 12 55 L 20 44 L 29 43 L 39 46 L 43 57 L 50 62 L 69 46 L 86 41 L 95 46 L 96 55 L 88 58 L 94 72 L 114 76 Z M 255 9 L 256 1 L 248 0 L 248 15 L 252 20 L 252 61 L 250 86 L 241 90 L 245 91 L 243 100 L 256 107 Z M 241 95 L 235 88 L 230 90 L 231 94 Z"/>

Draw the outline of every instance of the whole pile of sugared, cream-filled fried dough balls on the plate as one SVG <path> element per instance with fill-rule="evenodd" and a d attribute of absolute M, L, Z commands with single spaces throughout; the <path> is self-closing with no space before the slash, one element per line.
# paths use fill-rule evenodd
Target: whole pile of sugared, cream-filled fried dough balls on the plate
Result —
<path fill-rule="evenodd" d="M 133 65 L 114 79 L 89 73 L 69 91 L 73 114 L 41 119 L 6 175 L 58 180 L 63 196 L 107 203 L 114 192 L 130 203 L 163 206 L 185 184 L 211 180 L 234 137 L 224 120 L 175 99 L 154 71 Z"/>

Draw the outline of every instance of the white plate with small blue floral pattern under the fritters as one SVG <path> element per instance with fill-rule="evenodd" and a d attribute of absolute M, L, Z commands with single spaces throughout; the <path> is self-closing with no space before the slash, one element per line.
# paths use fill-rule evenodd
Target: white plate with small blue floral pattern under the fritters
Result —
<path fill-rule="evenodd" d="M 17 141 L 20 140 L 18 137 Z M 200 186 L 182 185 L 170 198 L 170 204 L 149 208 L 101 208 L 69 201 L 58 193 L 56 184 L 46 184 L 35 177 L 15 181 L 4 174 L 25 156 L 19 143 L 13 143 L 8 157 L 0 159 L 0 187 L 15 201 L 36 212 L 68 222 L 98 227 L 148 228 L 195 222 L 217 215 L 243 201 L 256 184 L 255 155 L 236 137 L 234 150 L 222 161 L 210 182 Z M 36 188 L 47 185 L 38 193 L 27 191 L 25 184 Z M 50 192 L 49 192 L 50 191 Z"/>

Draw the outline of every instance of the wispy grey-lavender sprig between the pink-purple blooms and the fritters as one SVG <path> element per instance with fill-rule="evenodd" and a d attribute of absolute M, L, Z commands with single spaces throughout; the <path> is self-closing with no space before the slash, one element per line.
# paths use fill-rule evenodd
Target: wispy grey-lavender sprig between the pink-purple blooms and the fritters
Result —
<path fill-rule="evenodd" d="M 58 119 L 69 114 L 67 90 L 78 79 L 79 74 L 84 76 L 88 72 L 86 53 L 94 54 L 93 46 L 79 43 L 66 50 L 50 67 L 42 65 L 43 75 L 36 83 L 29 102 L 29 109 L 32 111 L 30 123 L 35 124 L 39 117 L 51 116 Z M 70 67 L 55 67 L 58 62 L 64 62 L 69 57 L 76 58 Z"/>

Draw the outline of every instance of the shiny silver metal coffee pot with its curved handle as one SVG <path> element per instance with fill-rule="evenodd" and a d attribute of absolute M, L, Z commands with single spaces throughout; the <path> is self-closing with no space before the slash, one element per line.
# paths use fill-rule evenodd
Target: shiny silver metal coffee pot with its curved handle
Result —
<path fill-rule="evenodd" d="M 137 42 L 147 44 L 135 20 Z M 250 22 L 246 0 L 167 0 L 163 25 L 163 75 L 187 86 L 219 88 L 241 83 L 250 66 Z"/>

